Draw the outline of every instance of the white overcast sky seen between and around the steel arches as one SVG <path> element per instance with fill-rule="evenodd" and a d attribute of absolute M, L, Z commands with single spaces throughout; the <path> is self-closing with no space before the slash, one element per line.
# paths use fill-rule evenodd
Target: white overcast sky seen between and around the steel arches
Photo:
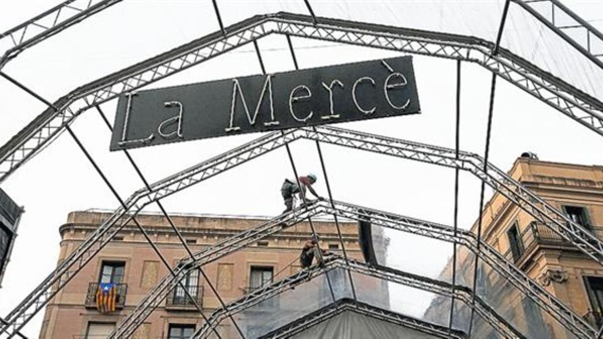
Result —
<path fill-rule="evenodd" d="M 311 2 L 315 4 L 317 14 L 323 16 L 329 16 L 332 11 L 331 16 L 335 17 L 367 16 L 385 24 L 481 37 L 496 35 L 502 8 L 502 2 L 497 0 L 407 0 L 395 2 L 396 5 L 371 1 Z M 55 3 L 58 2 L 4 1 L 0 31 L 8 30 Z M 218 4 L 226 25 L 253 14 L 281 9 L 306 13 L 301 0 L 246 4 L 218 0 Z M 600 1 L 575 0 L 564 1 L 564 4 L 595 27 L 603 28 L 603 4 Z M 546 65 L 569 69 L 568 77 L 572 81 L 584 81 L 584 74 L 588 72 L 584 69 L 575 71 L 572 68 L 576 67 L 575 60 L 568 57 L 571 54 L 564 53 L 561 47 L 559 51 L 551 49 L 555 45 L 551 45 L 546 31 L 534 31 L 533 24 L 525 24 L 522 14 L 517 13 L 519 10 L 514 6 L 511 4 L 512 16 L 503 45 L 517 46 L 526 57 L 534 57 Z M 81 84 L 217 28 L 209 0 L 125 0 L 28 49 L 8 63 L 3 71 L 47 100 L 54 101 Z M 518 40 L 518 37 L 525 39 Z M 300 68 L 402 55 L 318 40 L 294 38 L 293 43 Z M 268 72 L 293 69 L 285 37 L 267 37 L 260 40 L 259 46 Z M 341 124 L 341 127 L 454 147 L 455 62 L 417 55 L 413 61 L 420 115 L 352 122 Z M 469 63 L 463 64 L 462 72 L 461 149 L 483 154 L 491 75 Z M 253 47 L 244 46 L 146 88 L 259 73 Z M 603 83 L 601 78 L 591 81 L 593 85 L 589 90 L 600 93 L 597 91 Z M 113 121 L 116 101 L 101 107 Z M 0 142 L 10 139 L 44 108 L 27 93 L 0 79 Z M 72 127 L 123 198 L 142 187 L 124 154 L 109 152 L 110 133 L 98 113 L 94 110 L 84 113 Z M 154 182 L 257 136 L 160 145 L 133 150 L 131 154 L 147 179 Z M 523 151 L 533 151 L 541 160 L 603 165 L 601 145 L 601 136 L 499 79 L 490 153 L 494 165 L 506 171 Z M 298 141 L 292 145 L 292 151 L 299 173 L 319 174 L 317 191 L 326 195 L 314 143 Z M 331 145 L 323 145 L 323 153 L 333 196 L 337 200 L 452 224 L 453 170 Z M 284 208 L 279 189 L 285 177 L 292 177 L 292 171 L 282 148 L 172 195 L 163 203 L 169 212 L 277 215 Z M 478 214 L 479 182 L 470 174 L 462 173 L 460 183 L 459 225 L 469 228 Z M 25 206 L 26 211 L 0 288 L 0 315 L 4 316 L 55 267 L 60 241 L 58 227 L 65 223 L 70 211 L 113 210 L 118 203 L 66 133 L 5 180 L 2 189 Z M 489 197 L 491 192 L 487 193 Z M 145 211 L 155 208 L 149 206 Z M 387 232 L 387 235 L 391 238 L 389 264 L 411 273 L 437 277 L 452 253 L 452 246 L 443 242 L 406 233 Z M 402 287 L 393 287 L 391 296 L 395 310 L 415 316 L 422 314 L 430 300 L 429 294 Z M 42 314 L 43 311 L 27 325 L 26 335 L 37 336 Z"/>

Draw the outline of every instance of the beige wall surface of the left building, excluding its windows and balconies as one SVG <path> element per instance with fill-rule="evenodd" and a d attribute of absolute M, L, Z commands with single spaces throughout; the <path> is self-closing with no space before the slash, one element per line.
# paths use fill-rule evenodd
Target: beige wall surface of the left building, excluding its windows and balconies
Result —
<path fill-rule="evenodd" d="M 108 216 L 109 214 L 99 212 L 72 212 L 69 214 L 67 223 L 60 227 L 62 241 L 58 261 L 62 261 L 72 253 L 81 244 L 81 241 Z M 148 231 L 170 265 L 174 265 L 179 259 L 186 256 L 185 249 L 169 228 L 165 218 L 160 215 L 139 215 L 137 220 Z M 193 252 L 266 221 L 261 218 L 192 215 L 175 215 L 172 220 L 185 239 L 196 241 L 196 244 L 189 244 Z M 361 258 L 357 224 L 340 223 L 340 226 L 348 255 L 353 258 Z M 314 227 L 321 235 L 321 248 L 327 249 L 329 244 L 339 244 L 334 223 L 314 221 Z M 141 299 L 147 296 L 157 281 L 168 274 L 168 270 L 148 245 L 142 233 L 133 225 L 128 225 L 126 228 L 127 230 L 118 234 L 123 237 L 122 240 L 109 242 L 48 303 L 40 338 L 83 338 L 90 321 L 118 322 Z M 268 246 L 257 246 L 256 244 L 204 265 L 204 273 L 207 274 L 213 286 L 218 288 L 223 301 L 228 303 L 244 294 L 244 288 L 249 285 L 252 265 L 273 267 L 273 272 L 276 274 L 274 279 L 282 279 L 297 271 L 300 249 L 309 238 L 309 234 L 311 234 L 311 229 L 307 223 L 297 224 L 265 239 L 268 241 Z M 332 251 L 341 253 L 339 250 Z M 128 290 L 124 309 L 118 309 L 112 314 L 100 314 L 94 308 L 85 308 L 84 300 L 89 283 L 98 281 L 101 263 L 107 260 L 125 261 L 123 282 L 128 285 Z M 232 265 L 228 270 L 232 274 L 226 274 L 226 276 L 230 276 L 230 279 L 223 277 L 221 283 L 218 281 L 218 265 Z M 224 282 L 227 280 L 229 283 Z M 212 309 L 219 307 L 219 300 L 213 295 L 209 285 L 202 277 L 200 277 L 200 285 L 204 289 L 203 308 L 209 314 Z M 164 302 L 151 314 L 145 325 L 137 332 L 136 337 L 148 339 L 165 337 L 171 322 L 199 323 L 201 321 L 197 312 L 166 309 Z"/>

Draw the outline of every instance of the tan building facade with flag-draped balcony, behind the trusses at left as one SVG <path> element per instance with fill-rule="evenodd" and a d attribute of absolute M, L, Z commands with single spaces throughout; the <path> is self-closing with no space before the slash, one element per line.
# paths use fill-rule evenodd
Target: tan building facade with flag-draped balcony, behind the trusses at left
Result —
<path fill-rule="evenodd" d="M 67 223 L 60 226 L 62 241 L 58 261 L 72 253 L 107 217 L 109 214 L 99 211 L 69 214 Z M 171 218 L 193 251 L 211 246 L 268 220 L 212 215 L 171 215 Z M 156 242 L 170 265 L 185 258 L 184 247 L 162 215 L 142 214 L 137 216 L 137 220 Z M 343 222 L 340 226 L 348 255 L 362 258 L 358 225 Z M 320 247 L 341 254 L 335 223 L 319 220 L 314 221 L 314 227 L 321 236 Z M 299 223 L 257 241 L 253 246 L 205 265 L 204 273 L 223 301 L 232 302 L 265 282 L 282 279 L 300 270 L 300 249 L 310 234 L 309 225 Z M 115 324 L 147 296 L 166 274 L 168 270 L 142 233 L 134 224 L 128 224 L 48 303 L 40 338 L 106 337 Z M 100 312 L 96 308 L 96 293 L 100 282 L 115 283 L 118 298 L 113 312 Z M 362 285 L 362 282 L 359 284 Z M 206 314 L 220 306 L 219 300 L 200 274 L 188 276 L 185 285 L 189 293 L 197 297 Z M 387 285 L 383 286 L 387 289 Z M 387 291 L 384 292 L 388 300 Z M 176 289 L 137 329 L 134 338 L 185 338 L 202 322 L 203 318 L 190 299 L 182 290 Z"/>

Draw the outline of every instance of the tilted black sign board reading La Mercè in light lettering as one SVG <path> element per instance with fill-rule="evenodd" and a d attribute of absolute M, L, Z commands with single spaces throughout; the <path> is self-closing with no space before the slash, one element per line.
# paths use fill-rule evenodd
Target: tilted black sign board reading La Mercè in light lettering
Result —
<path fill-rule="evenodd" d="M 420 113 L 412 58 L 127 93 L 111 150 Z"/>

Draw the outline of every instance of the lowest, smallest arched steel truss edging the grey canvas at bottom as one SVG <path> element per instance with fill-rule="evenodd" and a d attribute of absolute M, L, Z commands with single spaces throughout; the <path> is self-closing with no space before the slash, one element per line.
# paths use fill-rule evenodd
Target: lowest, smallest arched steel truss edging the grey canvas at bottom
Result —
<path fill-rule="evenodd" d="M 418 320 L 417 318 L 408 317 L 407 315 L 402 315 L 387 309 L 368 305 L 367 303 L 344 298 L 337 300 L 335 303 L 324 306 L 323 308 L 318 309 L 318 311 L 305 315 L 303 318 L 295 320 L 294 322 L 282 326 L 281 328 L 275 329 L 268 334 L 262 335 L 260 339 L 289 338 L 305 329 L 312 328 L 313 326 L 346 311 L 367 315 L 371 318 L 384 320 L 385 322 L 390 322 L 441 338 L 467 338 L 466 333 L 457 329 L 451 329 L 449 331 L 449 329 L 444 326 L 435 325 L 434 323 Z"/>

